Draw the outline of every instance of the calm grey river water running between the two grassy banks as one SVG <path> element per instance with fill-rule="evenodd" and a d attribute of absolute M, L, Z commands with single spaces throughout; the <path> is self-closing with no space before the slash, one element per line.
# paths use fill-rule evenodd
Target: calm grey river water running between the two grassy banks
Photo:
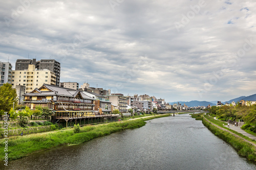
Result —
<path fill-rule="evenodd" d="M 148 120 L 139 129 L 36 153 L 8 164 L 5 169 L 256 169 L 188 114 Z"/>

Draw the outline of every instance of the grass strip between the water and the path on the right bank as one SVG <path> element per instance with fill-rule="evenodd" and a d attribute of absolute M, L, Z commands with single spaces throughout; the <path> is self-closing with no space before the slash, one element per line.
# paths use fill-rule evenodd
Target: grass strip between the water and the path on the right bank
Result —
<path fill-rule="evenodd" d="M 232 135 L 227 131 L 221 130 L 220 128 L 212 125 L 205 119 L 203 119 L 202 122 L 204 126 L 207 127 L 212 133 L 214 133 L 216 136 L 220 137 L 227 143 L 231 144 L 232 147 L 237 150 L 239 155 L 246 157 L 250 161 L 256 162 L 256 151 L 255 147 L 252 144 Z"/>

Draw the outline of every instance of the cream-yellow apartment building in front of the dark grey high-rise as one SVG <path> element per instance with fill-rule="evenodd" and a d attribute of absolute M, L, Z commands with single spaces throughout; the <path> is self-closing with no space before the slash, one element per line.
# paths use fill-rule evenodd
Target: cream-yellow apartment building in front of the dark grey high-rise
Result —
<path fill-rule="evenodd" d="M 41 87 L 44 83 L 56 85 L 55 73 L 48 69 L 37 69 L 35 65 L 29 64 L 28 69 L 12 71 L 12 88 L 16 85 L 26 87 L 26 93 Z"/>

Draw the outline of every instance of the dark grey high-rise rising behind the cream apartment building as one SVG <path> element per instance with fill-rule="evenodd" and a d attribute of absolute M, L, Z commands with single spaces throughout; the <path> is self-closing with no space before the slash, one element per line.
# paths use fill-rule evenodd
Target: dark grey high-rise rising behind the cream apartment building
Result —
<path fill-rule="evenodd" d="M 54 59 L 41 59 L 36 61 L 36 59 L 18 59 L 16 61 L 15 70 L 27 70 L 29 65 L 35 65 L 38 70 L 48 69 L 55 73 L 56 76 L 56 86 L 60 84 L 60 63 Z"/>

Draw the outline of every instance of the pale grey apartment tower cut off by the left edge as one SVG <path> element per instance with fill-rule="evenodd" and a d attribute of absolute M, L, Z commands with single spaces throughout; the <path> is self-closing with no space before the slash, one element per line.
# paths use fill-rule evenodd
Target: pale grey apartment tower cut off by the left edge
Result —
<path fill-rule="evenodd" d="M 11 84 L 11 79 L 12 79 L 11 63 L 0 61 L 0 71 L 1 71 L 0 86 L 3 86 L 5 83 Z"/>

